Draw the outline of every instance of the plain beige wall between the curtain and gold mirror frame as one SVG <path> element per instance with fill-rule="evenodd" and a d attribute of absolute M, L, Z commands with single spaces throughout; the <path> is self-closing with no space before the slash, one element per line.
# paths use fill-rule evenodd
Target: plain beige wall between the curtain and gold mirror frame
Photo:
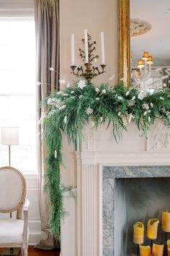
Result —
<path fill-rule="evenodd" d="M 73 82 L 77 78 L 71 74 L 71 33 L 75 34 L 75 61 L 76 65 L 82 65 L 79 48 L 82 48 L 81 38 L 84 37 L 84 29 L 88 30 L 92 40 L 97 41 L 97 54 L 101 63 L 100 32 L 104 32 L 105 62 L 107 73 L 94 79 L 95 85 L 101 82 L 109 82 L 111 85 L 117 82 L 117 78 L 109 81 L 112 75 L 117 77 L 117 0 L 61 0 L 60 1 L 60 52 L 61 52 L 61 79 Z M 61 85 L 63 88 L 65 85 Z M 61 182 L 76 187 L 76 160 L 73 153 L 73 145 L 68 146 L 67 140 L 63 140 L 63 163 Z"/>

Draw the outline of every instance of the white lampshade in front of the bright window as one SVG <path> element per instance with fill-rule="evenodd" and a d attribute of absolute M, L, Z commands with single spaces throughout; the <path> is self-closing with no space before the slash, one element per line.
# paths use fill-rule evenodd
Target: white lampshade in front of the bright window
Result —
<path fill-rule="evenodd" d="M 1 145 L 18 145 L 19 127 L 1 127 Z"/>

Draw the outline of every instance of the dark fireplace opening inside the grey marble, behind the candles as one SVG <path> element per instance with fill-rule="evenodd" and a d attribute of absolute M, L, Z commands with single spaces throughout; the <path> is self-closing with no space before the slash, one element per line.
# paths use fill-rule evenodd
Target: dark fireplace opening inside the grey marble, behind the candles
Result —
<path fill-rule="evenodd" d="M 170 210 L 170 179 L 166 178 L 115 178 L 114 188 L 114 255 L 137 255 L 137 244 L 133 243 L 133 224 L 144 223 L 144 243 L 151 245 L 146 237 L 147 222 L 158 218 L 158 236 L 156 244 L 165 244 L 164 231 L 161 231 L 161 212 Z M 170 239 L 168 234 L 167 239 Z"/>

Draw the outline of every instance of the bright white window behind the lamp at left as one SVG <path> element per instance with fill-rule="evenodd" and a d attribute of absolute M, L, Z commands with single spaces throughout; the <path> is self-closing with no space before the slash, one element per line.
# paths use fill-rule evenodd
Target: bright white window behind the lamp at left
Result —
<path fill-rule="evenodd" d="M 19 127 L 19 145 L 11 146 L 11 166 L 37 170 L 35 99 L 35 21 L 0 19 L 0 128 Z M 7 145 L 0 145 L 0 166 L 9 165 Z"/>

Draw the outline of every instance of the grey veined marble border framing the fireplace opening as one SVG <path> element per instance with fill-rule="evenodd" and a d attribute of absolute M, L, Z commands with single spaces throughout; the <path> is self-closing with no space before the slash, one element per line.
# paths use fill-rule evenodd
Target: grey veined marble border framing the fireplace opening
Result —
<path fill-rule="evenodd" d="M 103 256 L 119 256 L 114 253 L 115 179 L 152 177 L 170 177 L 170 166 L 103 167 Z"/>

